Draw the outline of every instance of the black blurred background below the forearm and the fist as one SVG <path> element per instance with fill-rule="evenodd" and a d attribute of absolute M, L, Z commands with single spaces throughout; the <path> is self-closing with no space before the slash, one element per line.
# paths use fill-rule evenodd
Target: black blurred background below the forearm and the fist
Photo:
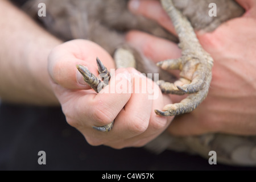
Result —
<path fill-rule="evenodd" d="M 46 152 L 46 165 L 38 152 Z M 247 170 L 207 159 L 142 148 L 93 147 L 69 126 L 60 107 L 0 105 L 0 170 Z"/>

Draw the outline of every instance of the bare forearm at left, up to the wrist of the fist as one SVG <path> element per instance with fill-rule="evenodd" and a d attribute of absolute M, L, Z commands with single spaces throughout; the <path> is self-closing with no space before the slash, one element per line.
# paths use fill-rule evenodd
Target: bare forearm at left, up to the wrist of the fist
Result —
<path fill-rule="evenodd" d="M 0 1 L 0 97 L 39 105 L 58 104 L 49 84 L 47 57 L 60 40 L 8 1 Z"/>

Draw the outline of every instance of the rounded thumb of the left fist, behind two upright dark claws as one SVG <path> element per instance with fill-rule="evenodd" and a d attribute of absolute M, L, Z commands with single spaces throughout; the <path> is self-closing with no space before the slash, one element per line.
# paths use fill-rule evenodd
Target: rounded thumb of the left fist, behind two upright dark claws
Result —
<path fill-rule="evenodd" d="M 84 65 L 98 75 L 96 57 L 110 69 L 114 68 L 112 57 L 96 43 L 88 40 L 72 40 L 55 47 L 48 57 L 48 72 L 52 80 L 68 89 L 90 89 L 76 64 Z M 113 64 L 110 64 L 113 63 Z"/>

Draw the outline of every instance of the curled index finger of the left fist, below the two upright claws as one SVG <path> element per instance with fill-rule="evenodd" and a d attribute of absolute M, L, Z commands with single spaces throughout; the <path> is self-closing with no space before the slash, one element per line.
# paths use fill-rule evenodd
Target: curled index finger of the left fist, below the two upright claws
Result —
<path fill-rule="evenodd" d="M 122 70 L 119 69 L 120 71 Z M 98 146 L 109 140 L 118 140 L 119 135 L 96 131 L 92 126 L 104 126 L 113 122 L 129 101 L 131 93 L 127 90 L 131 90 L 132 84 L 127 75 L 128 72 L 122 71 L 121 76 L 113 76 L 109 85 L 98 94 L 92 89 L 71 90 L 55 84 L 55 89 L 61 94 L 59 99 L 67 122 L 78 129 L 89 144 Z"/>

